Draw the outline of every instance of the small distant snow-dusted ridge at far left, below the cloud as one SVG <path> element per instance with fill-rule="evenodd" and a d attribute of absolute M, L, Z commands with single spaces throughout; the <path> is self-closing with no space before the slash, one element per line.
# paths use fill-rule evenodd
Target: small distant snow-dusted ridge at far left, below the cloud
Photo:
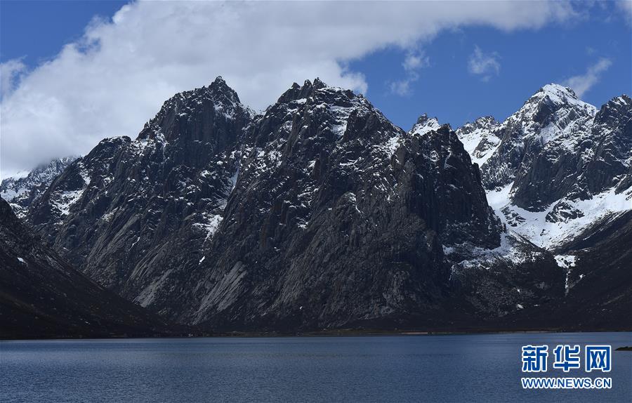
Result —
<path fill-rule="evenodd" d="M 46 191 L 53 180 L 77 157 L 53 159 L 18 177 L 5 178 L 0 183 L 0 197 L 6 200 L 18 217 Z"/>

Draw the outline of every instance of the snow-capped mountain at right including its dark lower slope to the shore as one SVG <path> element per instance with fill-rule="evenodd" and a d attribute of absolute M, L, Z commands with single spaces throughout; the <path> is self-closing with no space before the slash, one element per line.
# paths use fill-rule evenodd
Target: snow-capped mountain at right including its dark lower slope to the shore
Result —
<path fill-rule="evenodd" d="M 549 84 L 502 124 L 478 136 L 468 136 L 475 132 L 470 124 L 456 132 L 470 142 L 487 201 L 508 236 L 557 253 L 565 272 L 564 298 L 522 318 L 578 329 L 607 329 L 612 318 L 629 318 L 630 98 L 621 95 L 597 110 L 569 88 Z"/>

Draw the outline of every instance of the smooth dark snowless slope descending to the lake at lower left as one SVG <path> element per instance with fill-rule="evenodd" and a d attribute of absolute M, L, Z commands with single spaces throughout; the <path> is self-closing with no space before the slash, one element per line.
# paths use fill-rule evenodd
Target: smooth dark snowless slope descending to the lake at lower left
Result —
<path fill-rule="evenodd" d="M 167 327 L 70 267 L 0 199 L 0 338 L 151 336 Z"/>

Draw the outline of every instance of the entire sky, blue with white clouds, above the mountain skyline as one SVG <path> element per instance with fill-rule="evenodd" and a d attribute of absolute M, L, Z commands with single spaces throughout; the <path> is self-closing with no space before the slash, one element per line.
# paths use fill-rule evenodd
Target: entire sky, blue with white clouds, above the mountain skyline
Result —
<path fill-rule="evenodd" d="M 227 22 L 226 27 L 221 27 L 219 21 L 235 18 L 235 15 L 228 13 L 221 19 L 212 18 L 220 18 L 218 15 L 228 6 L 204 5 L 210 7 L 209 21 L 197 21 L 197 16 L 203 14 L 198 9 L 200 4 L 131 4 L 129 10 L 119 13 L 120 18 L 114 18 L 113 22 L 112 17 L 125 4 L 124 1 L 0 1 L 0 62 L 4 67 L 2 93 L 3 104 L 6 104 L 3 112 L 19 112 L 11 113 L 11 117 L 24 115 L 22 121 L 13 118 L 4 124 L 3 131 L 18 133 L 8 137 L 24 138 L 25 143 L 31 143 L 21 147 L 20 152 L 27 153 L 29 147 L 38 144 L 40 126 L 59 133 L 81 127 L 81 133 L 90 135 L 55 141 L 54 145 L 59 147 L 52 147 L 54 152 L 51 150 L 38 158 L 70 152 L 73 147 L 79 153 L 86 152 L 96 138 L 112 133 L 120 135 L 121 131 L 125 131 L 121 134 L 133 137 L 164 98 L 177 91 L 208 84 L 216 75 L 227 78 L 242 100 L 258 109 L 272 103 L 292 81 L 301 82 L 320 75 L 329 84 L 367 91 L 367 98 L 405 129 L 424 112 L 454 128 L 484 115 L 491 114 L 502 120 L 515 112 L 538 88 L 550 82 L 581 87 L 577 91 L 582 93 L 581 98 L 597 106 L 621 93 L 632 93 L 632 18 L 629 14 L 632 7 L 626 3 L 570 3 L 560 11 L 556 8 L 559 4 L 555 3 L 548 8 L 543 6 L 545 2 L 522 4 L 520 8 L 520 4 L 496 2 L 480 4 L 479 8 L 495 10 L 493 13 L 482 10 L 480 14 L 476 14 L 475 8 L 457 10 L 454 4 L 452 8 L 451 4 L 448 8 L 445 4 L 416 4 L 414 12 L 419 13 L 418 20 L 401 13 L 401 23 L 393 20 L 388 22 L 390 25 L 373 30 L 362 26 L 367 25 L 363 21 L 381 22 L 381 15 L 374 16 L 369 11 L 363 15 L 364 9 L 370 8 L 363 4 L 350 6 L 349 15 L 359 21 L 355 25 L 353 18 L 336 22 L 335 18 L 329 18 L 331 12 L 328 9 L 326 14 L 320 11 L 320 8 L 331 8 L 331 5 L 283 4 L 284 9 L 296 8 L 288 13 L 318 15 L 321 12 L 327 18 L 316 16 L 304 22 L 304 27 L 298 27 L 298 34 L 292 34 L 294 26 L 290 23 L 286 27 L 287 18 L 281 15 L 279 20 L 271 20 L 270 25 L 265 25 L 264 21 L 261 27 L 254 27 L 253 32 L 246 32 L 241 42 L 239 35 L 243 32 L 229 32 L 230 41 L 233 36 L 238 39 L 235 39 L 236 44 L 225 47 L 216 44 L 214 39 L 222 37 L 235 24 L 228 25 Z M 459 8 L 470 5 L 466 6 Z M 428 8 L 437 8 L 437 11 L 428 11 L 426 15 Z M 237 18 L 242 18 L 239 12 Z M 373 14 L 380 12 L 383 13 Z M 261 18 L 255 11 L 246 13 L 254 15 L 254 22 L 244 22 L 247 29 L 270 14 L 266 10 L 266 17 Z M 340 11 L 343 16 L 344 13 L 344 10 Z M 358 13 L 362 15 L 357 16 Z M 454 13 L 454 16 L 446 17 L 446 13 Z M 487 17 L 487 14 L 492 16 Z M 94 22 L 96 16 L 100 20 Z M 88 24 L 91 25 L 88 27 Z M 357 30 L 356 39 L 353 39 L 354 32 L 349 34 L 348 29 L 342 27 L 347 24 Z M 279 25 L 287 28 L 288 33 L 274 34 Z M 400 29 L 399 25 L 403 27 Z M 334 32 L 341 29 L 340 32 L 349 35 L 348 44 L 339 44 L 335 38 L 335 43 L 332 42 L 328 36 L 329 27 L 333 27 Z M 213 29 L 217 30 L 213 32 Z M 391 30 L 397 32 L 391 35 Z M 90 40 L 84 37 L 86 32 Z M 176 38 L 174 44 L 170 44 L 174 33 L 182 36 L 182 41 L 178 42 Z M 309 37 L 303 37 L 303 33 Z M 292 35 L 301 36 L 296 39 L 296 44 L 289 38 Z M 382 41 L 382 36 L 388 38 Z M 366 43 L 364 37 L 369 38 Z M 223 41 L 229 42 L 228 39 Z M 280 45 L 265 49 L 273 41 Z M 73 43 L 77 46 L 72 51 L 61 52 L 65 44 Z M 96 43 L 98 46 L 94 46 Z M 190 49 L 186 48 L 188 44 L 192 44 Z M 282 46 L 285 49 L 279 49 Z M 329 54 L 328 48 L 335 49 Z M 117 52 L 121 50 L 124 53 L 119 55 Z M 242 51 L 244 53 L 239 53 Z M 256 56 L 260 52 L 261 55 Z M 248 62 L 246 59 L 251 55 L 255 55 L 255 59 Z M 310 60 L 312 56 L 314 60 Z M 122 61 L 128 57 L 126 62 Z M 266 60 L 266 57 L 283 61 Z M 235 60 L 230 61 L 231 58 Z M 292 62 L 292 58 L 296 62 Z M 220 59 L 229 62 L 218 62 Z M 140 64 L 138 60 L 147 64 Z M 301 64 L 301 60 L 305 63 Z M 137 62 L 138 66 L 134 66 Z M 5 67 L 11 67 L 11 70 Z M 128 79 L 126 69 L 130 71 L 129 82 L 124 81 Z M 272 84 L 261 84 L 270 81 L 265 77 L 272 76 L 275 77 Z M 257 81 L 257 77 L 261 79 Z M 51 83 L 58 79 L 59 86 L 53 86 Z M 66 84 L 62 86 L 64 80 Z M 99 82 L 103 84 L 100 86 Z M 48 92 L 34 90 L 49 84 Z M 70 91 L 66 94 L 65 88 L 74 90 L 75 84 L 77 93 Z M 125 93 L 128 88 L 129 96 Z M 143 98 L 139 98 L 139 93 Z M 82 97 L 86 97 L 85 100 Z M 73 116 L 42 121 L 40 126 L 32 127 L 34 119 L 48 119 L 50 115 L 48 110 L 23 114 L 25 107 L 20 105 L 32 105 L 33 99 L 46 99 L 60 108 L 60 114 Z M 129 105 L 118 107 L 113 105 L 112 99 L 117 99 L 116 102 L 124 100 Z M 93 107 L 89 107 L 91 104 Z M 77 105 L 79 109 L 86 109 L 86 113 L 75 114 Z M 112 105 L 112 111 L 104 111 L 109 105 Z M 136 112 L 132 115 L 130 110 Z M 121 124 L 111 131 L 96 122 L 100 117 L 121 121 Z M 85 121 L 68 123 L 72 119 Z M 31 140 L 28 133 L 36 134 Z M 7 141 L 4 140 L 4 149 Z M 4 159 L 9 160 L 8 157 Z M 17 162 L 13 161 L 13 165 L 20 165 Z M 0 168 L 10 171 L 8 166 Z"/>

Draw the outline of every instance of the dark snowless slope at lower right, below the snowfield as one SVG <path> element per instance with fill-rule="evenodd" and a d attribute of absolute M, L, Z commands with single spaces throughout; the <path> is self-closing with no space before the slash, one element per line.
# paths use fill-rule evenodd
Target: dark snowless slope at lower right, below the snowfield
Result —
<path fill-rule="evenodd" d="M 560 253 L 569 253 L 567 292 L 518 320 L 552 329 L 632 329 L 632 211 L 586 227 Z"/>

